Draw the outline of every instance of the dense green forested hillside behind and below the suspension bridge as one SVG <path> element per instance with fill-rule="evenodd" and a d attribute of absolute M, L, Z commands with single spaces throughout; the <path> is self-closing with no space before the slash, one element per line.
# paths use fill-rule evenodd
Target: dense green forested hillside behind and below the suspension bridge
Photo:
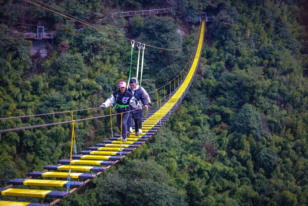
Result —
<path fill-rule="evenodd" d="M 89 22 L 119 10 L 166 7 L 158 0 L 43 2 Z M 199 24 L 186 17 L 215 16 L 207 23 L 202 64 L 180 108 L 146 144 L 59 205 L 308 205 L 308 3 L 176 3 L 169 16 L 97 24 L 147 44 L 178 48 L 198 31 Z M 0 22 L 0 117 L 97 107 L 128 79 L 131 44 L 124 39 L 90 27 L 78 33 L 82 25 L 19 0 L 2 1 L 0 18 L 41 23 L 55 33 L 47 44 L 49 56 L 41 58 L 30 55 L 32 41 L 20 38 L 20 28 Z M 173 79 L 192 49 L 146 48 L 144 88 L 152 91 Z M 136 63 L 135 50 L 134 68 Z M 108 113 L 96 109 L 74 117 Z M 70 113 L 2 120 L 0 129 L 66 120 Z M 110 119 L 76 123 L 75 133 L 77 150 L 86 149 L 110 136 Z M 70 140 L 69 124 L 0 133 L 0 187 L 67 158 Z"/>

